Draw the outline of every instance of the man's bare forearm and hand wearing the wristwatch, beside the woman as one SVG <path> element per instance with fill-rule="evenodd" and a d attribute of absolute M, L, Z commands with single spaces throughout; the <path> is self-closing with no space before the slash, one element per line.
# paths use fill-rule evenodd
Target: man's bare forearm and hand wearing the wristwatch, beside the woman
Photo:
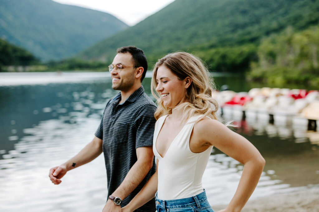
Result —
<path fill-rule="evenodd" d="M 120 197 L 122 200 L 127 197 L 145 178 L 153 165 L 152 146 L 139 147 L 136 149 L 137 161 L 127 173 L 121 185 L 113 192 L 112 196 Z M 108 200 L 103 212 L 121 211 L 121 207 Z"/>

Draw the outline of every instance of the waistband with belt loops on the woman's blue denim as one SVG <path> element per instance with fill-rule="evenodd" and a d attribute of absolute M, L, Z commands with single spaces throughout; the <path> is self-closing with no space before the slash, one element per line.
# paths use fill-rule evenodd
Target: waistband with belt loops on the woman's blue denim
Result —
<path fill-rule="evenodd" d="M 200 208 L 201 202 L 204 202 L 207 200 L 205 189 L 202 193 L 188 197 L 183 199 L 176 199 L 176 200 L 160 200 L 157 198 L 157 192 L 155 194 L 155 203 L 156 205 L 161 205 L 163 209 L 170 209 L 170 208 L 180 208 L 182 207 L 188 207 L 197 205 L 198 208 Z"/>

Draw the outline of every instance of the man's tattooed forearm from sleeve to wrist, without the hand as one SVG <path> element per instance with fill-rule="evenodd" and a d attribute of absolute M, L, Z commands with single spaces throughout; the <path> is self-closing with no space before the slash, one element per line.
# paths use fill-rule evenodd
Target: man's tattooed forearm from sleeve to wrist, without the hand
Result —
<path fill-rule="evenodd" d="M 66 167 L 69 171 L 73 168 L 82 166 L 96 157 L 98 157 L 102 153 L 102 140 L 97 137 L 88 143 L 77 155 L 75 155 L 70 160 L 66 161 L 62 165 Z"/>

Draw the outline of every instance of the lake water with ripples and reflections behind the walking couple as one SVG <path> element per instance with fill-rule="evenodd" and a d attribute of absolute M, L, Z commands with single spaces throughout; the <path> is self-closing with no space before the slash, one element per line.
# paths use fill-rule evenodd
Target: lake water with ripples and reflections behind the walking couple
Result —
<path fill-rule="evenodd" d="M 143 81 L 149 96 L 150 76 Z M 238 76 L 215 81 L 236 92 L 264 86 Z M 106 102 L 117 93 L 111 84 L 108 72 L 0 73 L 0 211 L 101 211 L 107 199 L 103 155 L 68 172 L 60 185 L 51 183 L 48 171 L 93 139 Z M 236 124 L 266 160 L 251 198 L 319 186 L 319 133 L 256 119 Z M 203 176 L 211 205 L 230 201 L 242 168 L 213 149 Z"/>

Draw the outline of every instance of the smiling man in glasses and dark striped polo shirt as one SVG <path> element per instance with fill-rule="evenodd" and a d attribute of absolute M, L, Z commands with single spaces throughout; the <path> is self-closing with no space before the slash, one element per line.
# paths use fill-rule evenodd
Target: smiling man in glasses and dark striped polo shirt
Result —
<path fill-rule="evenodd" d="M 120 92 L 110 99 L 93 140 L 77 155 L 50 169 L 54 184 L 67 171 L 104 153 L 108 178 L 108 200 L 103 212 L 121 211 L 155 172 L 152 151 L 156 105 L 145 94 L 142 80 L 147 70 L 144 52 L 128 46 L 118 49 L 109 65 L 112 88 Z M 136 211 L 155 211 L 151 200 Z"/>

